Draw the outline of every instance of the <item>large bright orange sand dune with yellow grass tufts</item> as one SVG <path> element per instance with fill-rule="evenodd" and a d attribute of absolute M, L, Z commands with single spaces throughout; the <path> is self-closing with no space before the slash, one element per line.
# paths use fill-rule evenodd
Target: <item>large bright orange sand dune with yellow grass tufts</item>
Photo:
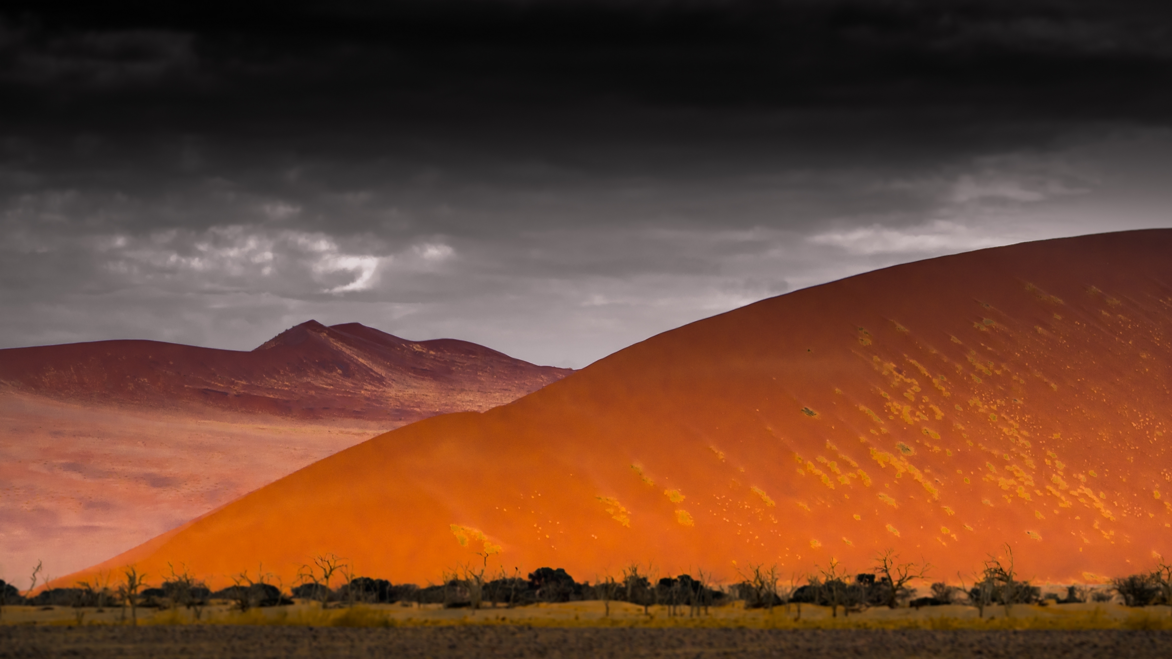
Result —
<path fill-rule="evenodd" d="M 225 583 L 264 562 L 288 583 L 328 551 L 421 582 L 479 552 L 731 578 L 891 546 L 955 580 L 1009 542 L 1026 577 L 1136 571 L 1172 557 L 1170 256 L 1168 230 L 1090 236 L 768 299 L 375 437 L 103 566 Z"/>

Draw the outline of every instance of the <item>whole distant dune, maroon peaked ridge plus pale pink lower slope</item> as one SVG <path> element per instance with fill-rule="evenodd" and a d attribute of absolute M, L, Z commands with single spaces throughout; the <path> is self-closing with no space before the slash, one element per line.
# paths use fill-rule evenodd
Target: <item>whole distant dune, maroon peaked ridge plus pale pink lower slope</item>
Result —
<path fill-rule="evenodd" d="M 38 559 L 50 575 L 79 570 L 379 433 L 489 409 L 567 373 L 315 321 L 252 352 L 0 351 L 0 578 Z"/>

